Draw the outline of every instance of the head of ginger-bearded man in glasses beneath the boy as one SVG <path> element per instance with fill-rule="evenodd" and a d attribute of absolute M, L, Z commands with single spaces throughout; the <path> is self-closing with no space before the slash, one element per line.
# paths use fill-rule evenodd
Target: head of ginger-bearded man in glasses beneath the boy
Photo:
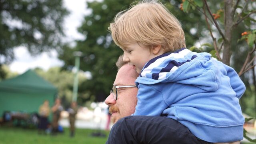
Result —
<path fill-rule="evenodd" d="M 128 63 L 125 63 L 122 57 L 123 56 L 120 56 L 116 62 L 116 65 L 118 66 L 118 73 L 116 74 L 114 85 L 135 85 L 134 82 L 139 74 L 132 69 Z M 116 123 L 120 118 L 130 116 L 134 113 L 135 106 L 137 104 L 137 91 L 138 88 L 136 87 L 119 88 L 118 101 L 114 100 L 112 94 L 106 98 L 105 103 L 109 106 L 109 112 L 112 114 L 112 122 Z"/>

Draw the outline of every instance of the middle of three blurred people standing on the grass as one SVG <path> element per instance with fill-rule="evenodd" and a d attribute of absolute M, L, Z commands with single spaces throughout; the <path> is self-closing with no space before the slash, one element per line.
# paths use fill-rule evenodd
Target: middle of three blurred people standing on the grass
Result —
<path fill-rule="evenodd" d="M 56 135 L 58 132 L 58 122 L 60 120 L 60 112 L 63 110 L 61 100 L 56 98 L 54 106 L 52 106 L 52 135 Z"/>

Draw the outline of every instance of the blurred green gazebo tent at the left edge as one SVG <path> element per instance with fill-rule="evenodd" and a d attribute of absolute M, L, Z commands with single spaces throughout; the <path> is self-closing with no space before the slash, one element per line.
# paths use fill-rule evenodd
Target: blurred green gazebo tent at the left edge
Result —
<path fill-rule="evenodd" d="M 0 116 L 4 111 L 38 112 L 44 100 L 54 103 L 57 88 L 34 71 L 0 81 Z"/>

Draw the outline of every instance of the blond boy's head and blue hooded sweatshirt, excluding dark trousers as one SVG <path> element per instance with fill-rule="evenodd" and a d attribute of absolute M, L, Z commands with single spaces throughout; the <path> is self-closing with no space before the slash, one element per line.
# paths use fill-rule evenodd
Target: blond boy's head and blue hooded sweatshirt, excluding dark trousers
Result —
<path fill-rule="evenodd" d="M 134 115 L 172 118 L 207 142 L 243 139 L 243 82 L 210 54 L 186 49 L 180 23 L 162 4 L 140 2 L 118 13 L 109 29 L 140 74 Z"/>

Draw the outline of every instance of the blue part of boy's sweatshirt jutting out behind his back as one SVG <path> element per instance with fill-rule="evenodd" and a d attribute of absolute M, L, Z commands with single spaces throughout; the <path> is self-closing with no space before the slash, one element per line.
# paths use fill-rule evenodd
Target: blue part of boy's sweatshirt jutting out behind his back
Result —
<path fill-rule="evenodd" d="M 240 99 L 246 89 L 244 82 L 242 82 L 242 80 L 233 68 L 227 65 L 225 65 L 225 67 L 227 70 L 227 76 L 230 78 L 230 86 L 236 92 L 236 97 Z"/>

